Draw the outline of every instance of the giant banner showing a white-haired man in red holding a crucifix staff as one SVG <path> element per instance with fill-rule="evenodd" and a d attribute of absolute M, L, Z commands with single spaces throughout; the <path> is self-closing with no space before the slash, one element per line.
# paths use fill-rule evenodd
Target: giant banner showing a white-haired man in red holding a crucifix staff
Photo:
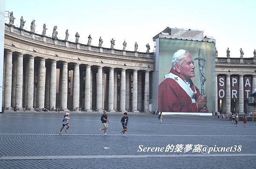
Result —
<path fill-rule="evenodd" d="M 160 38 L 157 51 L 159 110 L 215 111 L 215 43 Z"/>

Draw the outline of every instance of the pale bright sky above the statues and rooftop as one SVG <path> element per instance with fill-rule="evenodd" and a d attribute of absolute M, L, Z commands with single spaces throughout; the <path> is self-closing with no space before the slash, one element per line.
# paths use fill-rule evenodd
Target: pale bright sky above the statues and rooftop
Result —
<path fill-rule="evenodd" d="M 99 37 L 103 47 L 110 48 L 110 40 L 116 41 L 114 48 L 145 52 L 146 44 L 150 52 L 154 49 L 152 37 L 166 27 L 204 30 L 204 36 L 216 39 L 219 57 L 253 57 L 256 49 L 256 1 L 254 0 L 6 0 L 6 11 L 13 11 L 15 22 L 20 26 L 20 17 L 26 20 L 24 28 L 30 31 L 34 19 L 35 32 L 42 34 L 43 24 L 47 25 L 47 36 L 58 26 L 58 38 L 65 39 L 69 30 L 69 40 L 87 44 L 89 34 L 91 45 L 98 46 Z M 9 23 L 9 18 L 6 18 Z"/>

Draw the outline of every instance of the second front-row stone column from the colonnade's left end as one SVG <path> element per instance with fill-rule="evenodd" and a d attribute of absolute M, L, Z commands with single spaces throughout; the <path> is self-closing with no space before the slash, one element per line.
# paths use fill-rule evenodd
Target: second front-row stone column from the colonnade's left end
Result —
<path fill-rule="evenodd" d="M 22 90 L 23 90 L 23 55 L 17 54 L 17 73 L 16 73 L 16 88 L 15 88 L 15 104 L 17 109 L 22 109 Z"/>

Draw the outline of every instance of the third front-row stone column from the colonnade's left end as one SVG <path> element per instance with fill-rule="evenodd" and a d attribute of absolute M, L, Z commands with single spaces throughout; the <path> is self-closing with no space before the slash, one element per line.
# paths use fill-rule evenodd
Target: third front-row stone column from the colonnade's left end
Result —
<path fill-rule="evenodd" d="M 27 110 L 32 110 L 33 100 L 34 100 L 34 56 L 29 56 L 27 76 L 28 76 L 27 93 L 25 93 Z"/>

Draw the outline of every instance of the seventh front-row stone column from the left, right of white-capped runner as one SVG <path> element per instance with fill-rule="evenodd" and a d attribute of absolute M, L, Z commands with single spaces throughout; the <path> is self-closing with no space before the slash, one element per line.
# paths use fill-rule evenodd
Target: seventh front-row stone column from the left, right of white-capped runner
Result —
<path fill-rule="evenodd" d="M 79 77 L 79 64 L 75 63 L 74 74 L 73 74 L 73 109 L 79 107 L 79 85 L 80 85 L 80 77 Z"/>

